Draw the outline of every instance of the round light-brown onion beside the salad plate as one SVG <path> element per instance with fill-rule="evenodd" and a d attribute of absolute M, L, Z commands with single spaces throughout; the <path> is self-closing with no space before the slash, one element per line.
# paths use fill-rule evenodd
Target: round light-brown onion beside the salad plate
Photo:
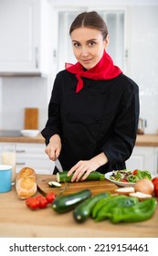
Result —
<path fill-rule="evenodd" d="M 134 185 L 135 191 L 139 191 L 148 195 L 152 195 L 154 191 L 154 186 L 152 180 L 143 178 L 138 180 Z"/>

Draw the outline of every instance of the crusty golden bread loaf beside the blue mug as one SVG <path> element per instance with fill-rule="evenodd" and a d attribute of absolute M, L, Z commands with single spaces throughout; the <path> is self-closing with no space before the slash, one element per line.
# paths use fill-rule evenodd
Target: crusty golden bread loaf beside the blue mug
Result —
<path fill-rule="evenodd" d="M 16 176 L 16 193 L 20 199 L 32 197 L 37 193 L 35 170 L 25 167 Z"/>

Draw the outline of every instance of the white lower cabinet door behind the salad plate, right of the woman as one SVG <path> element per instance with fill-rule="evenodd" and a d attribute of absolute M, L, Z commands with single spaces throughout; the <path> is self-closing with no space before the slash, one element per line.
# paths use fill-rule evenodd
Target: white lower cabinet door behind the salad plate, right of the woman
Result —
<path fill-rule="evenodd" d="M 148 170 L 155 175 L 154 147 L 135 146 L 132 156 L 128 161 L 126 161 L 126 167 L 129 170 Z"/>

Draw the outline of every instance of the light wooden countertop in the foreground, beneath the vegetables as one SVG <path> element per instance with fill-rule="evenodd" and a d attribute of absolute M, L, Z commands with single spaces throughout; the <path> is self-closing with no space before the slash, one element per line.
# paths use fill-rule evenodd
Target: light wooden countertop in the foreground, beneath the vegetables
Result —
<path fill-rule="evenodd" d="M 47 177 L 47 176 L 45 176 Z M 152 219 L 136 223 L 111 224 L 88 219 L 77 223 L 72 212 L 58 214 L 50 207 L 31 210 L 16 196 L 15 187 L 0 193 L 0 237 L 38 238 L 157 238 L 158 207 Z"/>

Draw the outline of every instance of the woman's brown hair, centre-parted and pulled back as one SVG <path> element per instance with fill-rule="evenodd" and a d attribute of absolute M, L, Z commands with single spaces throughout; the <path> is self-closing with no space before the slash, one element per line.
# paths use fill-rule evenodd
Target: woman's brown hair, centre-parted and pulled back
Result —
<path fill-rule="evenodd" d="M 79 27 L 90 27 L 99 30 L 102 34 L 103 39 L 108 35 L 108 28 L 102 17 L 95 11 L 84 12 L 79 14 L 72 22 L 69 28 L 69 35 L 72 31 Z"/>

